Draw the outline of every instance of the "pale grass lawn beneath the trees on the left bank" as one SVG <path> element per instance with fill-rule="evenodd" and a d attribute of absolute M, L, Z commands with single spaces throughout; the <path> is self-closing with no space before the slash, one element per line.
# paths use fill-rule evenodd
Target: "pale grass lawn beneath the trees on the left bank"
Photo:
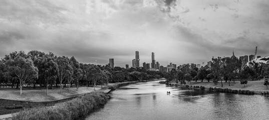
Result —
<path fill-rule="evenodd" d="M 112 85 L 110 83 L 109 85 Z M 97 85 L 95 89 L 100 89 L 101 85 Z M 33 87 L 23 87 L 22 95 L 20 94 L 20 88 L 0 88 L 0 98 L 3 99 L 12 99 L 12 100 L 26 100 L 26 101 L 50 101 L 50 100 L 58 100 L 63 98 L 69 98 L 73 96 L 77 96 L 79 94 L 84 94 L 94 91 L 93 87 L 80 86 L 78 91 L 75 85 L 70 87 L 70 92 L 68 92 L 67 87 L 62 89 L 62 93 L 60 93 L 60 87 L 53 87 L 53 89 L 49 89 L 49 95 L 47 95 L 47 90 L 45 87 L 41 89 L 37 87 L 34 89 Z"/>

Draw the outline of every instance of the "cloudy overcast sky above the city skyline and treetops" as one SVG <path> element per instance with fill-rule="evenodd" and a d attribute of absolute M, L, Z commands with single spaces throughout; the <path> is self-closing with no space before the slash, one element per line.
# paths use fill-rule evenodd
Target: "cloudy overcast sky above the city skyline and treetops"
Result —
<path fill-rule="evenodd" d="M 266 56 L 268 0 L 1 0 L 0 57 L 40 50 L 79 62 L 202 63 Z"/>

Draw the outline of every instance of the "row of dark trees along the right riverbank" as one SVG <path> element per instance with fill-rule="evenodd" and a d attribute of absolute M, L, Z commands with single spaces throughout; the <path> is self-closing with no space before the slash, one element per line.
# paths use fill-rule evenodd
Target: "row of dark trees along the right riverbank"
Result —
<path fill-rule="evenodd" d="M 269 73 L 269 63 L 249 62 L 243 64 L 240 59 L 235 56 L 231 57 L 212 57 L 211 67 L 205 65 L 204 67 L 197 68 L 195 64 L 183 64 L 181 68 L 172 69 L 164 77 L 168 80 L 180 81 L 181 84 L 185 84 L 185 80 L 203 82 L 206 79 L 208 82 L 212 80 L 215 84 L 218 81 L 229 82 L 235 79 L 240 80 L 241 84 L 246 84 L 247 79 L 260 79 L 264 75 Z"/>

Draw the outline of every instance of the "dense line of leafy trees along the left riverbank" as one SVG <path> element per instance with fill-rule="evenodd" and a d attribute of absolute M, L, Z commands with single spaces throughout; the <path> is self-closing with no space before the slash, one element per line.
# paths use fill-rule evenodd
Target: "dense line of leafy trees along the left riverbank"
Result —
<path fill-rule="evenodd" d="M 74 56 L 56 56 L 54 53 L 45 53 L 32 50 L 28 53 L 15 51 L 5 55 L 0 61 L 0 83 L 11 83 L 12 87 L 22 88 L 25 84 L 33 87 L 45 86 L 70 88 L 76 85 L 95 86 L 107 85 L 109 82 L 123 82 L 162 78 L 165 72 L 149 71 L 140 68 L 110 68 L 108 65 L 80 63 Z M 64 85 L 64 86 L 63 86 Z M 21 91 L 22 93 L 22 91 Z"/>

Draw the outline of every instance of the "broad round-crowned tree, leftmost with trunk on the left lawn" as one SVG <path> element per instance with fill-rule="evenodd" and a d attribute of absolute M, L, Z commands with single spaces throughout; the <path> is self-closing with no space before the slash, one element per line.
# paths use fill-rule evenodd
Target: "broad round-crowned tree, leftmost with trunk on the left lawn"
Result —
<path fill-rule="evenodd" d="M 22 94 L 22 87 L 27 81 L 38 77 L 38 68 L 34 66 L 31 59 L 17 56 L 7 61 L 8 72 L 12 77 L 19 79 Z"/>

